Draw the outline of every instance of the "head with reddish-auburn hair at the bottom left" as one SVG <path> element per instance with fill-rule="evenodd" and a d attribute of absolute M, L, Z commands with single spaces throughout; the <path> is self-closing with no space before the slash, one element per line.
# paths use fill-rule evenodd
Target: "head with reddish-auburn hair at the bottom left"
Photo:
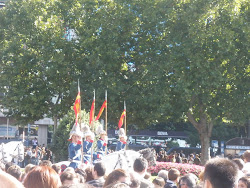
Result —
<path fill-rule="evenodd" d="M 61 186 L 59 175 L 49 166 L 35 166 L 23 181 L 25 188 L 58 188 Z"/>

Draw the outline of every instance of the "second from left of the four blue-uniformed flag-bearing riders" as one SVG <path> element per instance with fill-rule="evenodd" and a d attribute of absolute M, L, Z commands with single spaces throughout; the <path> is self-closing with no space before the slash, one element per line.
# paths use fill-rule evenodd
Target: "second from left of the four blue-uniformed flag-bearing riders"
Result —
<path fill-rule="evenodd" d="M 94 142 L 94 134 L 89 130 L 84 133 L 85 140 L 83 142 L 83 162 L 88 164 L 91 162 L 91 147 Z"/>

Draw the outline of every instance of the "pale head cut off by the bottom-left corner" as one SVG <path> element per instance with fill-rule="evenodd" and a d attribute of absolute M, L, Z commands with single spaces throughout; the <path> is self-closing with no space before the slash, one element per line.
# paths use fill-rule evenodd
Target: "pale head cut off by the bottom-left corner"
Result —
<path fill-rule="evenodd" d="M 0 170 L 0 187 L 1 188 L 24 188 L 21 182 L 16 178 Z"/>

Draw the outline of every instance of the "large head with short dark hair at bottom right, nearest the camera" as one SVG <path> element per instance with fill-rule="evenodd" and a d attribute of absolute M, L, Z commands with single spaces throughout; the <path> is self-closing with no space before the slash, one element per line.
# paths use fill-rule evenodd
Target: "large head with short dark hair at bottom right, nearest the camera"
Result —
<path fill-rule="evenodd" d="M 238 170 L 229 159 L 210 159 L 205 165 L 204 188 L 233 188 L 237 184 Z"/>

